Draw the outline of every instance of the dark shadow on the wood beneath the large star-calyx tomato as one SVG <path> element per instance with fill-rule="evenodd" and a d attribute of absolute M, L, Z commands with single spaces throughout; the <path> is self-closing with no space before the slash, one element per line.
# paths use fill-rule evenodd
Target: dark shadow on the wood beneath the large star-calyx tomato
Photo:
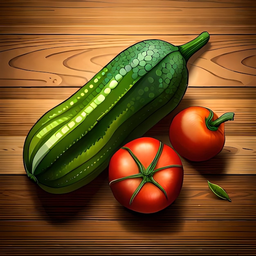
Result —
<path fill-rule="evenodd" d="M 122 210 L 118 211 L 120 224 L 127 231 L 134 232 L 176 232 L 184 223 L 184 210 L 181 198 L 186 197 L 187 190 L 181 190 L 178 198 L 168 207 L 156 213 L 139 213 L 120 206 Z M 180 199 L 179 199 L 180 198 Z M 124 219 L 124 216 L 126 218 Z"/>

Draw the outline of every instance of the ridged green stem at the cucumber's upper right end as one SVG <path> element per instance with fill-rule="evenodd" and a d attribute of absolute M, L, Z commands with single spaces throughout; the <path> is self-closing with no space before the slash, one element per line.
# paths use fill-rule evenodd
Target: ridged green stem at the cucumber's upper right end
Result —
<path fill-rule="evenodd" d="M 184 45 L 178 46 L 179 51 L 184 57 L 184 59 L 186 60 L 186 62 L 195 52 L 197 52 L 204 45 L 206 45 L 209 39 L 210 39 L 209 33 L 207 31 L 204 31 L 198 37 L 191 40 L 190 42 L 185 43 Z"/>

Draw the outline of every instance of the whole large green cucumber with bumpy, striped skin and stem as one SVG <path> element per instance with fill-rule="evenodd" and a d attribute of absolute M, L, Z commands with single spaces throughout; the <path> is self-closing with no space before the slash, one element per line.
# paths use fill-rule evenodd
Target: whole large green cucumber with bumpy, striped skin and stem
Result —
<path fill-rule="evenodd" d="M 23 147 L 28 177 L 50 193 L 91 182 L 121 146 L 180 103 L 186 63 L 208 40 L 207 32 L 180 46 L 144 40 L 120 52 L 31 128 Z"/>

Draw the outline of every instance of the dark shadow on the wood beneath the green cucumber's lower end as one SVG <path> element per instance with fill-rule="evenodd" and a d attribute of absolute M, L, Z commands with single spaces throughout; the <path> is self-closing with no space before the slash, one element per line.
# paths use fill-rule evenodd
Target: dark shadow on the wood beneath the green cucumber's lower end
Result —
<path fill-rule="evenodd" d="M 81 211 L 91 207 L 90 201 L 103 184 L 106 183 L 107 177 L 108 172 L 105 169 L 92 182 L 80 189 L 64 194 L 48 193 L 39 186 L 36 186 L 37 197 L 44 209 L 43 213 L 47 215 L 47 220 L 58 223 L 78 218 Z"/>

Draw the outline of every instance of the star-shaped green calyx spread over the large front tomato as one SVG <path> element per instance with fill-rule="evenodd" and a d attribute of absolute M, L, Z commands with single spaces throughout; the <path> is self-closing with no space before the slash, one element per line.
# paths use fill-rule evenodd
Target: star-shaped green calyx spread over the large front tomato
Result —
<path fill-rule="evenodd" d="M 116 183 L 116 182 L 119 182 L 119 181 L 122 181 L 122 180 L 127 180 L 127 179 L 132 179 L 132 178 L 139 178 L 141 177 L 142 180 L 141 180 L 141 183 L 139 184 L 139 186 L 137 187 L 137 189 L 135 189 L 134 193 L 132 194 L 131 198 L 130 198 L 130 205 L 132 204 L 132 201 L 134 200 L 134 198 L 136 197 L 136 195 L 139 193 L 139 191 L 141 190 L 142 186 L 144 184 L 146 184 L 147 182 L 151 182 L 153 183 L 155 186 L 157 186 L 163 193 L 164 195 L 166 196 L 166 199 L 167 199 L 167 193 L 166 191 L 164 190 L 164 188 L 157 182 L 154 180 L 153 178 L 153 175 L 160 171 L 160 170 L 163 170 L 163 169 L 166 169 L 166 168 L 171 168 L 171 167 L 182 167 L 182 165 L 180 164 L 171 164 L 171 165 L 168 165 L 168 166 L 164 166 L 164 167 L 161 167 L 161 168 L 157 168 L 155 169 L 155 166 L 157 164 L 157 161 L 160 157 L 160 155 L 162 154 L 162 150 L 163 150 L 163 147 L 164 147 L 164 144 L 162 143 L 162 141 L 160 141 L 160 144 L 159 144 L 159 148 L 157 150 L 157 153 L 153 159 L 153 161 L 150 163 L 150 165 L 145 168 L 143 164 L 141 164 L 141 162 L 139 161 L 139 159 L 136 157 L 136 155 L 132 152 L 132 150 L 130 150 L 130 148 L 124 146 L 122 147 L 122 149 L 125 149 L 127 150 L 130 155 L 132 156 L 132 158 L 134 159 L 134 161 L 136 162 L 138 168 L 139 168 L 139 173 L 136 173 L 136 174 L 132 174 L 132 175 L 129 175 L 129 176 L 126 176 L 126 177 L 122 177 L 122 178 L 119 178 L 119 179 L 116 179 L 116 180 L 112 180 L 109 185 L 113 184 L 113 183 Z"/>

